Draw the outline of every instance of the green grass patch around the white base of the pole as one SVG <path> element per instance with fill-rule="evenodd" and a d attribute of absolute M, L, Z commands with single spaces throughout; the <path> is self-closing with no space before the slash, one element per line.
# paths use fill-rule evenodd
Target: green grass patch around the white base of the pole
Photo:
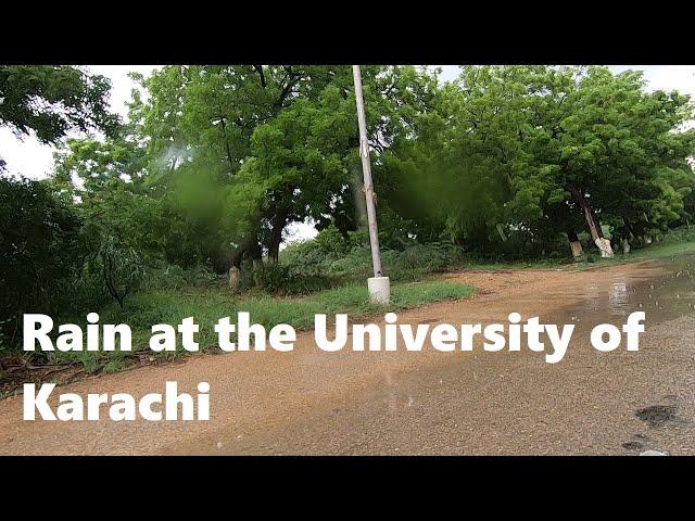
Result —
<path fill-rule="evenodd" d="M 263 325 L 266 330 L 278 323 L 289 323 L 301 331 L 314 326 L 316 314 L 346 313 L 353 319 L 364 318 L 434 302 L 466 298 L 472 292 L 469 285 L 441 280 L 395 283 L 391 288 L 391 304 L 378 305 L 369 302 L 365 281 L 350 282 L 304 297 L 277 297 L 262 293 L 235 295 L 224 289 L 151 290 L 132 295 L 125 310 L 110 306 L 100 313 L 101 323 L 130 326 L 132 352 L 53 352 L 49 359 L 53 364 L 78 363 L 87 372 L 116 372 L 141 360 L 142 355 L 148 361 L 157 361 L 184 354 L 182 351 L 150 352 L 150 328 L 154 323 L 175 326 L 184 318 L 194 317 L 200 326 L 197 340 L 201 351 L 211 351 L 217 345 L 214 325 L 226 316 L 232 317 L 233 322 L 239 312 L 250 313 L 252 321 Z M 84 328 L 85 325 L 80 326 Z"/>

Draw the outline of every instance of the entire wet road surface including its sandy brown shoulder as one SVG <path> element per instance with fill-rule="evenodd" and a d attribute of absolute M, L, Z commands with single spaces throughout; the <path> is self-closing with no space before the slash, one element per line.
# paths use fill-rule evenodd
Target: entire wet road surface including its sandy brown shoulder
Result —
<path fill-rule="evenodd" d="M 468 271 L 468 301 L 400 322 L 576 323 L 565 358 L 518 353 L 323 353 L 311 333 L 288 354 L 198 356 L 91 379 L 63 392 L 139 395 L 211 383 L 210 422 L 27 423 L 0 403 L 0 454 L 695 454 L 695 257 L 587 271 Z M 599 353 L 591 329 L 646 313 L 640 351 Z"/>

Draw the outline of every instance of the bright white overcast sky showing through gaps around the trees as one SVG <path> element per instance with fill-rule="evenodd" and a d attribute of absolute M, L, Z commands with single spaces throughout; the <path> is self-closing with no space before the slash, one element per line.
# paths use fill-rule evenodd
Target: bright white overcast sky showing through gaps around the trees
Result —
<path fill-rule="evenodd" d="M 456 65 L 439 66 L 442 67 L 443 80 L 456 78 L 458 74 Z M 130 91 L 135 87 L 127 74 L 138 72 L 147 76 L 157 67 L 159 65 L 89 65 L 87 69 L 111 79 L 111 110 L 125 118 L 126 102 L 130 99 Z M 610 68 L 616 73 L 627 69 L 644 71 L 648 81 L 647 88 L 679 90 L 691 94 L 695 100 L 695 65 L 610 65 Z M 52 154 L 55 150 L 54 147 L 41 144 L 34 136 L 20 139 L 9 128 L 0 127 L 0 157 L 5 161 L 7 169 L 12 175 L 22 174 L 33 179 L 47 177 L 51 170 Z M 315 234 L 313 227 L 306 225 L 294 226 L 288 232 L 290 238 L 298 239 Z"/>

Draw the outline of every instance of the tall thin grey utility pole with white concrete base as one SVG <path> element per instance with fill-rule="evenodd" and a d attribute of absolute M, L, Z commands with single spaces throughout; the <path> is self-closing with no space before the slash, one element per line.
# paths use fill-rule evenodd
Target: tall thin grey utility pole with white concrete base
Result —
<path fill-rule="evenodd" d="M 352 66 L 355 81 L 355 101 L 357 102 L 357 122 L 359 124 L 359 156 L 365 178 L 365 198 L 367 200 L 367 223 L 369 225 L 369 244 L 371 245 L 371 265 L 374 278 L 367 280 L 369 296 L 374 302 L 386 304 L 391 297 L 389 278 L 383 277 L 381 254 L 379 253 L 379 230 L 377 229 L 377 209 L 374 204 L 374 185 L 371 182 L 371 162 L 369 161 L 369 141 L 367 140 L 367 118 L 365 100 L 362 94 L 362 73 L 359 65 Z"/>

